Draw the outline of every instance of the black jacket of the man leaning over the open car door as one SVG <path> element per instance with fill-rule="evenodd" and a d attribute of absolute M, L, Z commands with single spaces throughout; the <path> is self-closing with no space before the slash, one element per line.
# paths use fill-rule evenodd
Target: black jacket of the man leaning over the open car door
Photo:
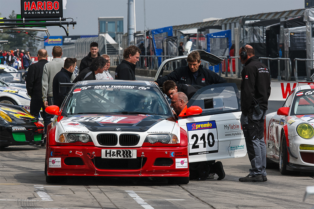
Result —
<path fill-rule="evenodd" d="M 181 84 L 192 84 L 192 72 L 190 71 L 188 66 L 182 66 L 176 68 L 176 70 L 172 71 L 168 75 L 165 75 L 156 80 L 158 86 L 162 86 L 162 84 L 167 80 L 172 80 Z M 203 68 L 201 65 L 198 67 L 198 76 L 197 76 L 197 85 L 198 86 L 208 86 L 211 84 L 217 83 L 227 83 L 227 81 L 219 76 L 217 73 L 210 71 L 206 68 Z"/>

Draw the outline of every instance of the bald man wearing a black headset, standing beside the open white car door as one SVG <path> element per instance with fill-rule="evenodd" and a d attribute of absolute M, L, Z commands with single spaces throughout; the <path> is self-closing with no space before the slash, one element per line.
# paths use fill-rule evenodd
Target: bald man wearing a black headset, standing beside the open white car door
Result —
<path fill-rule="evenodd" d="M 252 169 L 241 182 L 267 181 L 264 118 L 270 96 L 270 74 L 258 61 L 252 46 L 244 44 L 239 50 L 241 65 L 241 126 Z"/>

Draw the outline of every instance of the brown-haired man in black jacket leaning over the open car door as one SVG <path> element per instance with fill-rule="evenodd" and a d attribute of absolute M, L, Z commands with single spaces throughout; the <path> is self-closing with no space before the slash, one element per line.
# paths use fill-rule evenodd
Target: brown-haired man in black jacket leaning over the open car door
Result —
<path fill-rule="evenodd" d="M 155 82 L 158 86 L 167 80 L 172 80 L 180 84 L 190 84 L 199 86 L 208 86 L 216 83 L 227 83 L 227 81 L 217 73 L 201 66 L 201 56 L 198 51 L 192 51 L 187 56 L 188 66 L 181 66 L 165 75 Z"/>

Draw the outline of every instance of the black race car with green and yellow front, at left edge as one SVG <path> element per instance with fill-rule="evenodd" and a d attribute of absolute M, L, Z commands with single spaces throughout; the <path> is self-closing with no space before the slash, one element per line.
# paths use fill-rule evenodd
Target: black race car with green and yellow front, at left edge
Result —
<path fill-rule="evenodd" d="M 44 125 L 23 107 L 0 104 L 0 147 L 42 144 Z"/>

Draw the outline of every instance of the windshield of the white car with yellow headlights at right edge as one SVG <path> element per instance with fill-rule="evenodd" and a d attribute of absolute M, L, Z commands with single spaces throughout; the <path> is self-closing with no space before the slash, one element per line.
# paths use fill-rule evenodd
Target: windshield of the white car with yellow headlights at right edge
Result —
<path fill-rule="evenodd" d="M 293 104 L 290 115 L 314 115 L 314 91 L 296 92 Z"/>

